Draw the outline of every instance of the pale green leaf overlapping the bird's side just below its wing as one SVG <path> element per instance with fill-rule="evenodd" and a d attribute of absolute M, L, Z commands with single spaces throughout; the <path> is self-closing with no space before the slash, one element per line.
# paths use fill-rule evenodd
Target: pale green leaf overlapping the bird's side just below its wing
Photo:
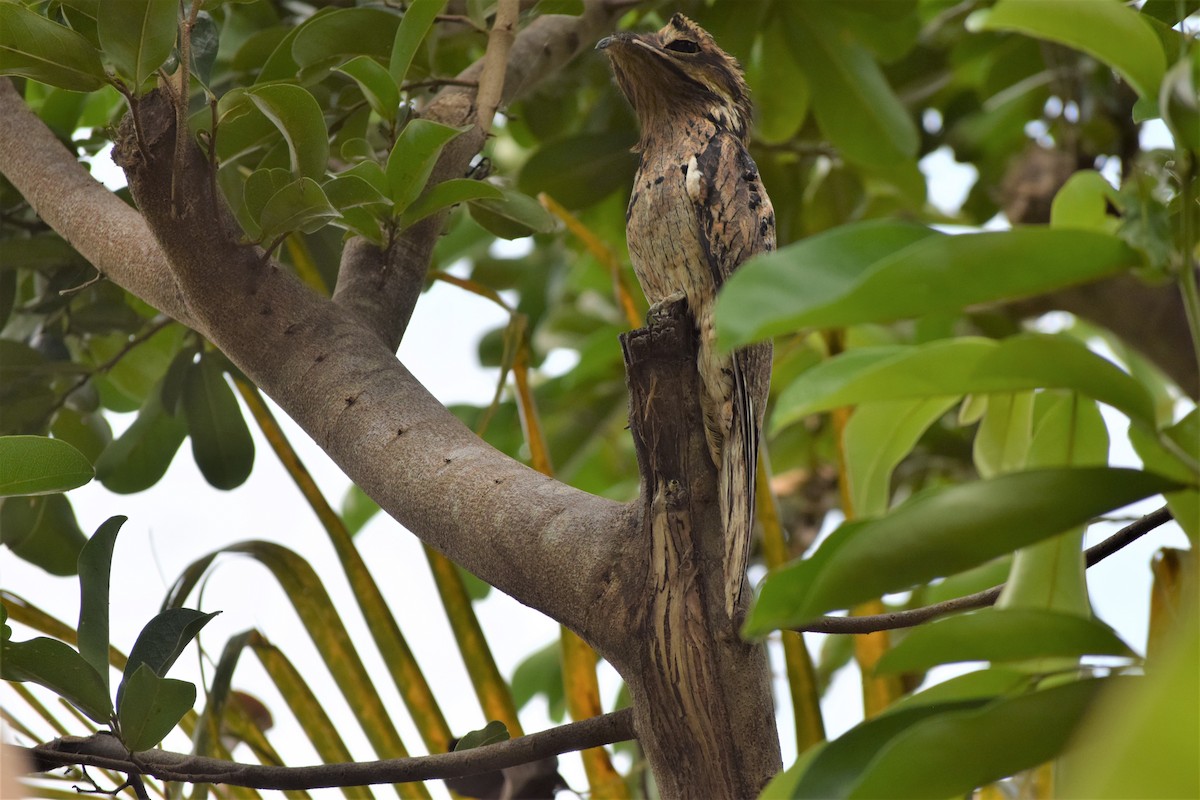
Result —
<path fill-rule="evenodd" d="M 718 297 L 720 342 L 732 348 L 794 330 L 794 314 L 836 302 L 853 291 L 874 264 L 940 235 L 910 222 L 871 219 L 750 259 L 726 281 Z"/>

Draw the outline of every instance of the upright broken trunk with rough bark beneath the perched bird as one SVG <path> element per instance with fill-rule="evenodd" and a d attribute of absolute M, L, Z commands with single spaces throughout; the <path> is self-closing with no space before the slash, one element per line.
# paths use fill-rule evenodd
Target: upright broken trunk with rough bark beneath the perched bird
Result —
<path fill-rule="evenodd" d="M 629 685 L 664 796 L 757 796 L 780 769 L 779 739 L 766 650 L 743 642 L 725 612 L 725 527 L 686 303 L 622 344 L 642 497 L 618 584 L 643 602 L 606 655 Z"/>

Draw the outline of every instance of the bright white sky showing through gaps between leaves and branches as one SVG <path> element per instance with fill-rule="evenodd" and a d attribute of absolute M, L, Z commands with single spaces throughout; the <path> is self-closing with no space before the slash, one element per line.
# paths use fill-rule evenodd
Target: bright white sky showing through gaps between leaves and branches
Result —
<path fill-rule="evenodd" d="M 922 168 L 930 179 L 931 201 L 953 210 L 961 204 L 974 180 L 974 170 L 956 164 L 946 150 L 928 156 Z M 104 157 L 97 158 L 94 170 L 102 180 L 119 180 L 115 168 Z M 517 242 L 506 247 L 528 247 Z M 398 357 L 421 383 L 444 403 L 486 404 L 494 392 L 498 371 L 479 366 L 475 345 L 487 330 L 506 321 L 503 311 L 491 302 L 444 283 L 436 284 L 421 296 L 409 325 Z M 1046 325 L 1055 325 L 1051 317 Z M 437 347 L 427 343 L 437 342 Z M 616 343 L 614 343 L 616 347 Z M 557 354 L 551 365 L 558 369 L 571 366 L 568 353 Z M 330 503 L 338 507 L 349 481 L 324 452 L 277 409 L 276 416 L 302 462 L 313 474 Z M 1108 413 L 1108 409 L 1105 409 Z M 248 415 L 247 415 L 248 419 Z M 1117 415 L 1109 415 L 1114 437 L 1114 465 L 1140 465 L 1128 445 Z M 133 415 L 114 420 L 114 433 L 130 425 Z M 157 610 L 167 588 L 180 572 L 198 558 L 228 545 L 246 540 L 269 540 L 296 551 L 312 564 L 332 596 L 335 607 L 356 643 L 370 643 L 371 637 L 358 613 L 344 575 L 337 567 L 332 547 L 307 504 L 275 458 L 265 441 L 256 434 L 257 461 L 250 480 L 238 489 L 221 492 L 208 486 L 190 453 L 190 445 L 180 449 L 166 477 L 152 489 L 134 495 L 115 495 L 94 482 L 70 493 L 80 527 L 95 530 L 113 515 L 124 515 L 128 522 L 116 543 L 113 575 L 112 637 L 114 644 L 128 650 L 140 626 Z M 1139 504 L 1126 515 L 1141 515 L 1160 505 L 1159 500 Z M 838 523 L 830 515 L 827 530 Z M 1099 541 L 1118 525 L 1093 525 L 1088 545 Z M 358 545 L 372 573 L 379 582 L 400 626 L 416 658 L 425 670 L 436 697 L 442 703 L 456 734 L 480 728 L 486 722 L 457 655 L 457 648 L 445 622 L 437 593 L 430 577 L 418 540 L 395 521 L 378 515 L 359 535 Z M 1126 548 L 1118 555 L 1088 572 L 1090 589 L 1097 614 L 1112 625 L 1138 650 L 1146 640 L 1146 616 L 1150 595 L 1150 559 L 1159 547 L 1183 547 L 1186 539 L 1177 527 L 1164 528 Z M 751 581 L 761 578 L 751 573 Z M 78 614 L 78 583 L 76 578 L 55 578 L 14 558 L 0 548 L 0 587 L 14 591 L 55 616 L 73 622 Z M 192 604 L 196 603 L 193 595 Z M 373 758 L 361 735 L 354 735 L 348 709 L 341 702 L 314 648 L 304 633 L 283 591 L 265 569 L 240 558 L 218 560 L 204 587 L 204 610 L 221 609 L 203 632 L 203 643 L 214 657 L 224 640 L 246 628 L 257 627 L 270 640 L 282 646 L 311 681 L 318 697 L 328 700 L 328 710 L 340 723 L 356 758 Z M 558 625 L 516 601 L 493 591 L 476 603 L 484 631 L 492 645 L 502 674 L 511 678 L 515 667 L 530 652 L 557 640 Z M 28 638 L 18 628 L 18 639 Z M 822 636 L 806 634 L 810 650 L 820 651 Z M 361 648 L 367 668 L 377 679 L 377 687 L 388 706 L 396 709 L 395 720 L 404 742 L 414 753 L 424 752 L 415 728 L 409 723 L 395 687 L 372 644 Z M 796 758 L 792 739 L 790 703 L 784 681 L 784 668 L 778 642 L 770 646 L 773 673 L 776 679 L 779 729 L 784 763 Z M 968 669 L 970 666 L 935 670 L 930 680 Z M 211 664 L 208 666 L 211 673 Z M 190 649 L 172 672 L 173 678 L 200 681 L 202 673 L 196 649 Z M 317 763 L 314 751 L 299 734 L 282 699 L 252 656 L 245 656 L 235 674 L 236 688 L 263 699 L 276 720 L 272 740 L 290 764 Z M 605 708 L 612 706 L 619 679 L 607 666 L 601 667 L 601 697 Z M 0 686 L 0 702 L 20 708 L 7 685 Z M 854 667 L 839 673 L 827 693 L 822 709 L 827 733 L 835 736 L 862 718 L 859 675 Z M 64 715 L 66 716 L 66 715 Z M 522 712 L 527 732 L 554 724 L 546 715 L 539 698 Z M 82 732 L 80 732 L 82 733 Z M 187 750 L 179 738 L 168 739 L 168 748 Z M 246 758 L 246 753 L 239 753 Z M 568 783 L 583 789 L 586 780 L 577 756 L 564 756 L 562 771 Z M 436 796 L 448 796 L 439 782 L 430 784 Z M 377 796 L 390 796 L 389 787 L 379 787 Z M 341 796 L 337 790 L 313 793 L 318 798 Z M 282 796 L 264 793 L 265 796 Z"/>

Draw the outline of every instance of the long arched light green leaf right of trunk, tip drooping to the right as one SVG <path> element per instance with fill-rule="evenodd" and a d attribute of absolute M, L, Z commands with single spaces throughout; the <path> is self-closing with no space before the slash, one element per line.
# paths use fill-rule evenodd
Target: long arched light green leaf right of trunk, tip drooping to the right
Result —
<path fill-rule="evenodd" d="M 1066 336 L 962 337 L 916 347 L 847 350 L 800 374 L 779 396 L 772 429 L 810 414 L 871 401 L 1072 389 L 1153 426 L 1141 384 Z"/>

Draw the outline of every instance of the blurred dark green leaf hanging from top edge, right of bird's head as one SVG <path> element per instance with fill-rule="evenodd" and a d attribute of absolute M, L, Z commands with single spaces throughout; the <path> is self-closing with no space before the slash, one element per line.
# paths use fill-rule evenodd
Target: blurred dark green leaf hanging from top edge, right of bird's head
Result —
<path fill-rule="evenodd" d="M 792 55 L 809 77 L 821 131 L 850 161 L 893 167 L 917 155 L 917 125 L 870 52 L 817 4 L 785 6 Z"/>

